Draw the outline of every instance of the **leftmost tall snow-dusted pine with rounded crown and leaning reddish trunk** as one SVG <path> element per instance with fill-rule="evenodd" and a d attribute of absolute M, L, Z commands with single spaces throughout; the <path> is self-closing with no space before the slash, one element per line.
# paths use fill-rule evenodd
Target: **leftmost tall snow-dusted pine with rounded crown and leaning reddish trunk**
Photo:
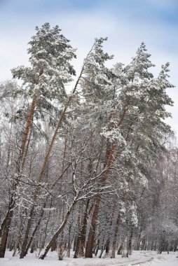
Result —
<path fill-rule="evenodd" d="M 27 122 L 22 136 L 20 154 L 18 158 L 17 175 L 19 179 L 13 183 L 10 209 L 8 210 L 1 230 L 6 232 L 6 237 L 2 237 L 3 243 L 0 246 L 0 256 L 4 257 L 6 249 L 6 240 L 8 237 L 8 228 L 11 224 L 13 209 L 15 207 L 15 190 L 20 182 L 20 174 L 24 167 L 24 156 L 27 152 L 27 139 L 29 129 L 32 125 L 36 105 L 39 105 L 41 99 L 57 99 L 60 104 L 65 101 L 66 92 L 64 84 L 72 80 L 71 75 L 75 74 L 73 66 L 69 63 L 75 56 L 74 49 L 69 45 L 69 41 L 62 34 L 58 26 L 50 29 L 49 23 L 44 24 L 41 28 L 36 27 L 36 35 L 32 36 L 29 42 L 30 54 L 29 62 L 31 66 L 18 66 L 12 69 L 13 78 L 20 78 L 23 82 L 22 89 L 17 94 L 32 99 Z M 25 151 L 26 148 L 26 151 Z M 7 225 L 6 225 L 7 223 Z M 28 230 L 27 230 L 28 231 Z M 24 243 L 22 244 L 22 257 L 27 245 L 27 233 Z M 3 232 L 2 232 L 3 236 Z"/>

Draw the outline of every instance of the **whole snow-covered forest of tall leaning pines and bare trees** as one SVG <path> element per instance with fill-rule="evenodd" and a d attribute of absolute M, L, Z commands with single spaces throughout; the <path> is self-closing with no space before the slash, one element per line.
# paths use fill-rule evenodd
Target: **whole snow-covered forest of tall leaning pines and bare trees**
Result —
<path fill-rule="evenodd" d="M 141 43 L 130 64 L 109 68 L 105 41 L 95 39 L 76 76 L 76 49 L 45 23 L 29 66 L 0 83 L 0 258 L 177 251 L 169 63 L 153 76 Z"/>

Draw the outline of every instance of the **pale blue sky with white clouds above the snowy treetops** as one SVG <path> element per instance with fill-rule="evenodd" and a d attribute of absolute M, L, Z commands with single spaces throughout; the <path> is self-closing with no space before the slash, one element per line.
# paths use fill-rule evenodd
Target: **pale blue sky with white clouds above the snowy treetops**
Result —
<path fill-rule="evenodd" d="M 28 41 L 35 27 L 50 22 L 77 48 L 74 66 L 82 59 L 95 37 L 108 37 L 104 48 L 114 54 L 112 64 L 128 64 L 144 41 L 151 59 L 160 70 L 170 62 L 168 93 L 174 107 L 167 109 L 178 136 L 178 0 L 0 0 L 0 81 L 11 79 L 11 69 L 28 64 Z"/>

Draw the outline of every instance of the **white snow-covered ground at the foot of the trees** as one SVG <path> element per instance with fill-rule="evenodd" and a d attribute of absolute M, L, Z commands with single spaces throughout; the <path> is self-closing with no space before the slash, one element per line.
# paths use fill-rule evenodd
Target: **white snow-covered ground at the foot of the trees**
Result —
<path fill-rule="evenodd" d="M 18 256 L 12 257 L 12 252 L 7 251 L 5 258 L 0 258 L 0 266 L 177 266 L 177 253 L 163 253 L 158 255 L 154 251 L 134 251 L 130 258 L 117 256 L 111 258 L 64 258 L 57 260 L 57 253 L 50 252 L 45 260 L 39 260 L 37 253 L 29 254 L 20 259 Z"/>

